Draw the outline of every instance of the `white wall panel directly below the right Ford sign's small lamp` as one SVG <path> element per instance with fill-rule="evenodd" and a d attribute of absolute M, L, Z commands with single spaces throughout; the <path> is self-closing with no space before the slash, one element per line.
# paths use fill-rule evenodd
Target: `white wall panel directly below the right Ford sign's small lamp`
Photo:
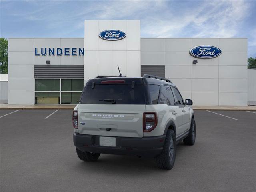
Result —
<path fill-rule="evenodd" d="M 192 78 L 202 79 L 218 79 L 219 78 L 219 66 L 192 66 Z"/>

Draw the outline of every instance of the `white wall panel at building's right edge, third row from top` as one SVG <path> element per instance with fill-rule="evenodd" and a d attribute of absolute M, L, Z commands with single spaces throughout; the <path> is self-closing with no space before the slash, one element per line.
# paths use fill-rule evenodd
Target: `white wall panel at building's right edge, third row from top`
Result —
<path fill-rule="evenodd" d="M 220 66 L 220 79 L 247 79 L 247 66 Z"/>

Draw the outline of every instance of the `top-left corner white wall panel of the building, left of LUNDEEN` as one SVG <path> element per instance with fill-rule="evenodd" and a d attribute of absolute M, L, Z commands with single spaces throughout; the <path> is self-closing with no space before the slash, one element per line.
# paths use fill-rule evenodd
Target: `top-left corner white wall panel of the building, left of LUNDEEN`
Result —
<path fill-rule="evenodd" d="M 8 39 L 8 51 L 34 51 L 34 38 Z"/>

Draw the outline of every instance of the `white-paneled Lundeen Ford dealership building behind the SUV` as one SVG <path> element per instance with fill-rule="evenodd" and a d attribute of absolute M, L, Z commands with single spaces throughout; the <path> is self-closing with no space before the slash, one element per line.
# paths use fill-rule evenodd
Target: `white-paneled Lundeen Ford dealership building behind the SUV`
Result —
<path fill-rule="evenodd" d="M 246 38 L 141 38 L 140 20 L 86 20 L 84 38 L 8 40 L 8 104 L 76 104 L 90 78 L 118 76 L 117 65 L 170 79 L 194 105 L 248 102 Z"/>

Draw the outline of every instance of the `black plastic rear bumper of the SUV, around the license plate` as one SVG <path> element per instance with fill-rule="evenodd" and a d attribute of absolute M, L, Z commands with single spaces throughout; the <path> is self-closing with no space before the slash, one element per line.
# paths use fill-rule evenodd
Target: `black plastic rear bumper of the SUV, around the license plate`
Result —
<path fill-rule="evenodd" d="M 74 133 L 74 145 L 85 152 L 155 157 L 162 152 L 166 135 L 156 137 L 116 137 L 116 147 L 100 146 L 100 136 Z"/>

